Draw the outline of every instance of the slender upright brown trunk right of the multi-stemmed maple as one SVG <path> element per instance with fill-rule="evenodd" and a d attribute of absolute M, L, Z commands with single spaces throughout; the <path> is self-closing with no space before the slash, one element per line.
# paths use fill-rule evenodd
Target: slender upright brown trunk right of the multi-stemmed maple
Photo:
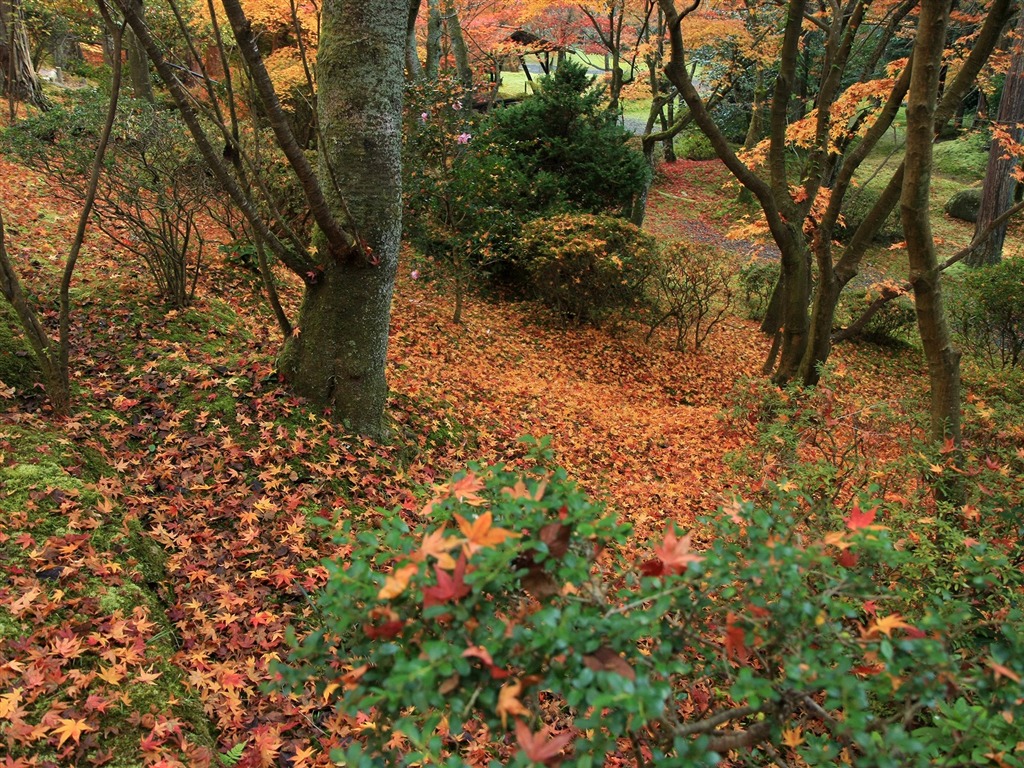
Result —
<path fill-rule="evenodd" d="M 950 0 L 923 0 L 906 110 L 900 220 L 906 236 L 918 327 L 931 382 L 931 437 L 959 442 L 959 352 L 952 347 L 932 238 L 929 193 L 935 111 Z"/>

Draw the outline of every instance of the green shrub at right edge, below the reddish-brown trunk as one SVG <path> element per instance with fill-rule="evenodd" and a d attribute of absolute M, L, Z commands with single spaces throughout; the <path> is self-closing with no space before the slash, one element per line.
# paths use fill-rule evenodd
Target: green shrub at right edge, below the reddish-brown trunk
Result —
<path fill-rule="evenodd" d="M 947 283 L 961 344 L 989 365 L 1024 365 L 1024 259 L 965 269 Z"/>

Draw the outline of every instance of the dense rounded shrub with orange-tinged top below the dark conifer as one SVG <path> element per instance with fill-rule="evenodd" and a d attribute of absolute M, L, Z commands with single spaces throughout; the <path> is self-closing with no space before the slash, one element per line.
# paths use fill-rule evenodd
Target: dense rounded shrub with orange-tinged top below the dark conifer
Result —
<path fill-rule="evenodd" d="M 643 299 L 654 241 L 613 216 L 564 214 L 524 226 L 517 259 L 537 296 L 563 319 L 600 325 Z"/>

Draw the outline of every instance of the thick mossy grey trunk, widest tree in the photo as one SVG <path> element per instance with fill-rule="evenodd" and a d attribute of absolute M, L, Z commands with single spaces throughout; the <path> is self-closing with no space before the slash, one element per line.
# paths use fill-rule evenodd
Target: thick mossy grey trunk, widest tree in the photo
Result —
<path fill-rule="evenodd" d="M 293 389 L 360 434 L 386 433 L 385 362 L 401 233 L 401 94 L 407 0 L 328 0 L 317 86 L 325 145 L 319 176 L 333 169 L 344 207 L 370 259 L 323 261 L 306 287 L 282 373 Z M 353 45 L 352 41 L 359 41 Z M 314 241 L 321 253 L 326 243 Z"/>

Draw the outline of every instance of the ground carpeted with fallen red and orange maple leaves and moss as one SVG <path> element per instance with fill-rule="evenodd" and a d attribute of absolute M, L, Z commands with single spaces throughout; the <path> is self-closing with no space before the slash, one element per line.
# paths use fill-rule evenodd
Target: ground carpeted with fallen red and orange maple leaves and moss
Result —
<path fill-rule="evenodd" d="M 651 231 L 728 250 L 723 174 L 717 163 L 666 170 Z M 76 205 L 5 159 L 0 179 L 8 250 L 51 315 Z M 754 246 L 732 248 L 748 258 Z M 6 765 L 202 766 L 217 753 L 239 765 L 324 764 L 327 734 L 344 740 L 359 724 L 265 687 L 286 627 L 310 615 L 321 558 L 347 551 L 314 518 L 372 527 L 377 510 L 399 508 L 416 525 L 432 485 L 471 461 L 516 465 L 522 435 L 550 435 L 569 474 L 633 523 L 638 547 L 774 471 L 728 458 L 752 440 L 745 415 L 730 412 L 768 346 L 741 316 L 687 352 L 668 338 L 646 344 L 629 324 L 564 330 L 526 304 L 473 300 L 455 325 L 450 299 L 406 265 L 390 347 L 394 439 L 379 444 L 279 385 L 280 340 L 256 291 L 215 254 L 195 306 L 167 311 L 141 265 L 90 234 L 66 419 L 47 414 L 17 340 L 0 337 Z M 870 453 L 923 434 L 920 352 L 847 345 L 835 367 L 849 385 L 844 411 L 887 408 Z M 979 398 L 988 386 L 969 385 Z"/>

